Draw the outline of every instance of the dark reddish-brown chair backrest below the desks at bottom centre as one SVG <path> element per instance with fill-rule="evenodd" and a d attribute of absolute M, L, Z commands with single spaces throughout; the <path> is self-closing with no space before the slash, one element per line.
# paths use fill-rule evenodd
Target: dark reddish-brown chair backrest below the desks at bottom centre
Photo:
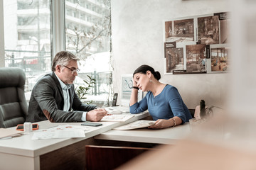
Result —
<path fill-rule="evenodd" d="M 85 146 L 85 160 L 87 170 L 115 169 L 118 166 L 137 157 L 143 152 L 154 150 L 144 147 L 108 147 L 108 146 Z"/>

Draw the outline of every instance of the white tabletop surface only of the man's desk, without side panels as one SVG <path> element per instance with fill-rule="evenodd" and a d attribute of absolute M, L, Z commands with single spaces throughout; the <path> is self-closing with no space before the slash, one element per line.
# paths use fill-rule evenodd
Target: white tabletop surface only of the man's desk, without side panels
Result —
<path fill-rule="evenodd" d="M 129 114 L 129 113 L 125 113 Z M 130 114 L 129 114 L 130 115 Z M 32 133 L 28 135 L 21 135 L 20 137 L 12 137 L 7 140 L 0 140 L 0 153 L 17 154 L 26 157 L 36 157 L 41 154 L 46 154 L 55 149 L 71 145 L 75 142 L 85 140 L 87 138 L 98 135 L 102 132 L 107 132 L 112 128 L 120 125 L 134 122 L 148 116 L 149 113 L 139 113 L 126 122 L 101 122 L 103 125 L 99 127 L 87 126 L 89 130 L 85 131 L 85 137 L 79 138 L 63 138 L 63 139 L 50 139 L 50 140 L 31 140 Z M 38 122 L 39 129 L 52 128 L 58 125 L 81 125 L 81 123 L 50 123 L 50 121 Z"/>

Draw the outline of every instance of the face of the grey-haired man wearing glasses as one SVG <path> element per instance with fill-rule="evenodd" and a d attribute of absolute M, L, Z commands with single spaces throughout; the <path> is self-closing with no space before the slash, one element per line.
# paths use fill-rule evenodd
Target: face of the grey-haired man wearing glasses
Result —
<path fill-rule="evenodd" d="M 73 84 L 75 81 L 75 77 L 78 76 L 77 72 L 74 72 L 72 74 L 72 70 L 78 69 L 78 62 L 75 60 L 70 60 L 68 64 L 65 66 L 58 65 L 56 67 L 56 71 L 58 72 L 58 77 L 61 81 L 63 81 L 65 84 Z"/>

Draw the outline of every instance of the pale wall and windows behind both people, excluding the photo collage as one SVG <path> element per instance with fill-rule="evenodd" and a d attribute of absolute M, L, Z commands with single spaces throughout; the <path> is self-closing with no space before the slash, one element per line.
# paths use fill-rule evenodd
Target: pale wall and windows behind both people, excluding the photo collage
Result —
<path fill-rule="evenodd" d="M 161 82 L 178 88 L 188 108 L 204 99 L 235 117 L 255 118 L 253 7 L 250 0 L 1 0 L 0 66 L 24 69 L 29 98 L 36 80 L 50 72 L 55 53 L 70 50 L 82 59 L 78 84 L 87 74 L 97 78 L 88 98 L 104 105 L 122 93 L 123 74 L 149 64 Z M 165 75 L 163 21 L 225 11 L 232 16 L 230 71 Z"/>

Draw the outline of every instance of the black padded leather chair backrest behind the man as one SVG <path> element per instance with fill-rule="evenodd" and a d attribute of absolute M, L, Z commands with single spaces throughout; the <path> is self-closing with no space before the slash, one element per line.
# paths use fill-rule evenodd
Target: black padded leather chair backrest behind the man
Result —
<path fill-rule="evenodd" d="M 28 114 L 24 94 L 25 81 L 23 69 L 0 68 L 0 128 L 9 128 L 25 122 Z"/>

